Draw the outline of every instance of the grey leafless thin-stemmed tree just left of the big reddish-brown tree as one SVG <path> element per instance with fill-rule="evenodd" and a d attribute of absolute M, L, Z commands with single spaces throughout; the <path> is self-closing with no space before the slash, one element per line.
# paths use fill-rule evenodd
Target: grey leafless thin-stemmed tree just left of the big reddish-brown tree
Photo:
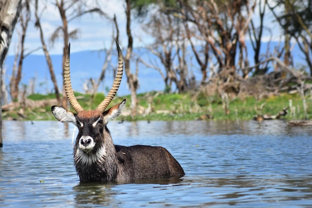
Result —
<path fill-rule="evenodd" d="M 155 37 L 155 42 L 148 46 L 149 50 L 159 58 L 164 68 L 164 73 L 159 67 L 142 63 L 156 69 L 165 84 L 165 92 L 171 92 L 172 84 L 176 85 L 178 92 L 188 90 L 188 67 L 186 64 L 186 41 L 181 19 L 170 13 L 165 13 L 165 7 L 160 7 L 152 15 L 151 21 L 144 25 L 144 30 Z M 178 64 L 174 64 L 178 62 Z"/>

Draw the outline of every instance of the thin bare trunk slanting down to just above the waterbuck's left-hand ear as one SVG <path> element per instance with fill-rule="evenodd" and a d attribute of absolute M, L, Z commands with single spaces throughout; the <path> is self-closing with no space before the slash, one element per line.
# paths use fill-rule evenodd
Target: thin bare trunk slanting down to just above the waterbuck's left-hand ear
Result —
<path fill-rule="evenodd" d="M 43 9 L 43 11 L 44 11 L 44 9 Z M 38 13 L 38 0 L 36 0 L 35 1 L 35 18 L 36 18 L 35 26 L 39 29 L 39 32 L 40 32 L 40 40 L 41 40 L 41 44 L 42 44 L 42 50 L 44 52 L 44 56 L 45 56 L 46 62 L 47 62 L 48 67 L 49 67 L 49 71 L 50 71 L 51 80 L 52 80 L 52 83 L 53 83 L 53 86 L 54 86 L 54 92 L 55 92 L 55 96 L 56 96 L 56 99 L 57 99 L 57 103 L 58 103 L 58 105 L 61 105 L 62 104 L 61 103 L 61 97 L 60 97 L 59 89 L 58 89 L 58 86 L 57 86 L 56 77 L 55 77 L 55 74 L 54 74 L 54 68 L 53 68 L 51 56 L 50 56 L 49 51 L 47 49 L 47 46 L 45 44 L 44 34 L 43 34 L 42 27 L 41 27 L 41 22 L 40 22 L 40 17 L 39 16 L 40 15 Z"/>

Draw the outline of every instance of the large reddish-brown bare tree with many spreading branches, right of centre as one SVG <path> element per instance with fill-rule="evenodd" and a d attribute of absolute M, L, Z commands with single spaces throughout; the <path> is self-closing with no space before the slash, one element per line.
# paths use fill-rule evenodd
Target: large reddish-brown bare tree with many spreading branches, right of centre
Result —
<path fill-rule="evenodd" d="M 218 62 L 218 75 L 224 81 L 231 81 L 236 75 L 237 47 L 246 51 L 244 36 L 256 5 L 248 0 L 178 0 L 186 28 L 192 28 L 192 36 L 209 43 Z M 194 29 L 196 28 L 196 30 Z M 241 59 L 243 52 L 239 52 Z M 205 59 L 206 60 L 206 59 Z M 243 63 L 243 61 L 240 61 Z"/>

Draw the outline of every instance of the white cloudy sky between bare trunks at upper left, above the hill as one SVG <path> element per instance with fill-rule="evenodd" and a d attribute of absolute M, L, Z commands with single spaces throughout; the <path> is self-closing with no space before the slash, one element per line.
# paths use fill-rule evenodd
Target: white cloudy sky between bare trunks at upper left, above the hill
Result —
<path fill-rule="evenodd" d="M 39 8 L 43 9 L 44 5 L 41 2 Z M 60 38 L 55 44 L 49 43 L 49 37 L 54 30 L 62 24 L 61 17 L 57 7 L 53 3 L 54 1 L 49 0 L 46 2 L 44 11 L 41 14 L 41 25 L 44 32 L 45 42 L 48 46 L 50 54 L 61 54 L 63 51 L 62 39 Z M 120 29 L 120 41 L 126 43 L 126 15 L 123 0 L 100 0 L 99 4 L 102 6 L 102 10 L 107 13 L 110 18 L 113 18 L 114 13 L 117 16 Z M 94 0 L 88 0 L 87 5 L 95 5 Z M 29 23 L 25 47 L 30 51 L 34 48 L 41 46 L 39 31 L 34 27 L 34 16 Z M 99 50 L 104 46 L 109 46 L 112 41 L 113 24 L 112 22 L 104 17 L 100 17 L 98 14 L 86 14 L 79 17 L 68 24 L 69 30 L 79 29 L 78 39 L 70 40 L 72 43 L 72 52 L 81 50 Z M 137 26 L 134 26 L 137 27 Z M 9 55 L 13 55 L 16 51 L 16 46 L 19 42 L 18 31 L 20 31 L 20 25 L 16 24 L 15 31 L 12 36 L 11 45 L 9 48 Z M 125 45 L 126 46 L 126 45 Z M 38 50 L 33 54 L 43 54 L 42 50 Z"/>

